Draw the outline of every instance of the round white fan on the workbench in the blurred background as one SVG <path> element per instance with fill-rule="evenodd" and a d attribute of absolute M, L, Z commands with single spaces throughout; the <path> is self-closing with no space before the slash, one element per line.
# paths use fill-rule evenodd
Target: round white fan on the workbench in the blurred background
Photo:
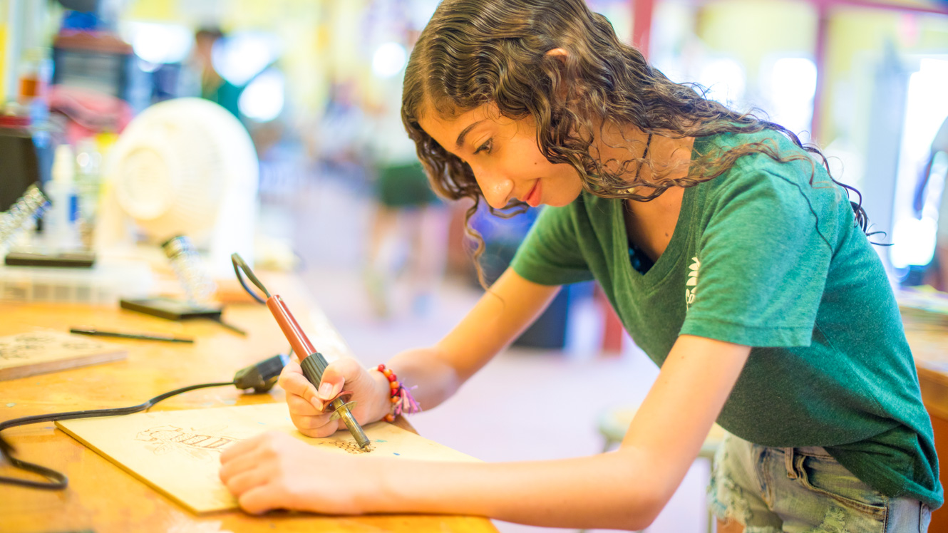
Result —
<path fill-rule="evenodd" d="M 188 235 L 215 272 L 234 252 L 250 262 L 258 175 L 250 136 L 226 109 L 197 98 L 156 103 L 108 154 L 96 248 L 128 243 L 131 219 L 154 244 Z"/>

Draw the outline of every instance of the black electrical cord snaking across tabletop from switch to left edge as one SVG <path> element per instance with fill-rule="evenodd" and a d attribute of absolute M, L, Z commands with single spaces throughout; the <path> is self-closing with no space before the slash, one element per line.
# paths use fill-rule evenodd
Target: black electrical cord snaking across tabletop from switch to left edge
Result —
<path fill-rule="evenodd" d="M 188 391 L 193 391 L 195 389 L 206 389 L 209 387 L 223 387 L 225 385 L 235 385 L 237 384 L 236 380 L 233 381 L 221 381 L 219 383 L 202 383 L 200 385 L 191 385 L 189 387 L 182 387 L 180 389 L 175 389 L 171 392 L 165 393 L 163 395 L 156 395 L 154 398 L 132 407 L 116 407 L 112 409 L 92 409 L 86 411 L 70 411 L 67 413 L 54 413 L 54 414 L 37 414 L 34 416 L 23 416 L 20 418 L 13 418 L 12 420 L 7 420 L 6 422 L 0 422 L 0 432 L 9 429 L 15 428 L 16 426 L 23 426 L 26 424 L 36 424 L 39 422 L 50 422 L 53 420 L 70 420 L 72 418 L 94 418 L 97 416 L 115 416 L 118 414 L 133 414 L 140 411 L 146 411 L 150 407 L 154 406 L 161 400 L 172 397 L 173 395 L 180 395 L 181 393 L 187 393 Z M 14 469 L 22 469 L 27 472 L 33 472 L 40 474 L 45 477 L 48 482 L 43 481 L 33 481 L 28 479 L 21 479 L 15 477 L 6 477 L 0 476 L 0 485 L 16 485 L 20 487 L 31 487 L 31 488 L 43 488 L 46 490 L 62 490 L 69 484 L 69 479 L 61 472 L 58 472 L 54 469 L 47 469 L 46 467 L 41 467 L 33 463 L 27 463 L 13 457 L 13 447 L 9 445 L 8 442 L 4 441 L 0 437 L 0 456 L 9 461 L 9 464 Z"/>

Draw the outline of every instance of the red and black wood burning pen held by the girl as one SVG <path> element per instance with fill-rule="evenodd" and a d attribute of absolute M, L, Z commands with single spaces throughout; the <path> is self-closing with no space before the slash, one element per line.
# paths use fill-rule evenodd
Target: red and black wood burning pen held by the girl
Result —
<path fill-rule="evenodd" d="M 322 354 L 316 351 L 316 348 L 309 341 L 309 338 L 303 333 L 300 324 L 296 322 L 296 319 L 293 318 L 293 314 L 290 313 L 290 310 L 286 307 L 286 303 L 283 302 L 283 298 L 280 298 L 280 295 L 277 294 L 271 296 L 264 287 L 264 284 L 260 283 L 260 280 L 253 275 L 250 267 L 246 266 L 246 263 L 239 255 L 236 253 L 231 255 L 230 260 L 233 262 L 234 271 L 237 272 L 237 279 L 241 285 L 244 285 L 244 288 L 246 288 L 247 292 L 249 292 L 255 300 L 264 303 L 263 300 L 246 286 L 244 279 L 240 275 L 240 270 L 244 270 L 246 277 L 253 285 L 257 285 L 264 291 L 267 308 L 270 309 L 273 318 L 280 324 L 280 329 L 283 330 L 283 336 L 286 337 L 286 340 L 290 341 L 293 351 L 300 358 L 303 376 L 305 376 L 314 387 L 319 389 L 319 382 L 322 381 L 322 373 L 326 370 L 326 367 L 329 366 L 329 363 L 326 362 L 326 358 L 322 357 Z M 348 398 L 343 396 L 344 395 L 337 396 L 337 398 L 329 402 L 329 406 L 333 408 L 333 416 L 331 419 L 336 420 L 337 418 L 342 418 L 342 423 L 346 425 L 349 432 L 356 438 L 356 443 L 359 448 L 364 450 L 369 446 L 371 441 L 369 437 L 365 435 L 365 432 L 362 431 L 362 427 L 358 425 L 356 417 L 352 414 L 351 409 L 356 407 L 356 402 L 347 402 L 346 400 Z"/>

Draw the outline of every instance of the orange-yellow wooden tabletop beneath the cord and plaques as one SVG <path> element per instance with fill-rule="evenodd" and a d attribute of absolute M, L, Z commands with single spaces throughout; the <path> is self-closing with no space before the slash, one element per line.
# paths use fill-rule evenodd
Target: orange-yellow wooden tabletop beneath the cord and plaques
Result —
<path fill-rule="evenodd" d="M 330 359 L 348 353 L 348 347 L 319 307 L 301 296 L 301 291 L 281 294 L 320 352 Z M 94 338 L 127 347 L 128 358 L 0 381 L 0 420 L 137 405 L 179 387 L 227 381 L 247 365 L 286 353 L 288 344 L 264 305 L 230 305 L 224 318 L 246 329 L 249 335 L 240 337 L 220 324 L 204 320 L 166 321 L 119 309 L 118 305 L 0 303 L 0 336 L 38 329 L 66 332 L 70 327 L 84 325 L 101 330 L 153 332 L 196 340 L 194 344 L 178 344 Z M 152 411 L 276 401 L 283 401 L 283 391 L 279 387 L 264 395 L 245 395 L 234 387 L 216 387 L 174 396 L 159 403 Z M 404 422 L 401 425 L 413 431 Z M 12 428 L 4 432 L 4 437 L 16 447 L 20 459 L 64 472 L 69 477 L 69 487 L 50 491 L 0 485 L 2 532 L 497 531 L 489 520 L 482 517 L 327 517 L 283 511 L 261 517 L 242 511 L 194 515 L 55 429 L 52 422 Z M 0 475 L 24 474 L 3 465 L 0 466 Z"/>

